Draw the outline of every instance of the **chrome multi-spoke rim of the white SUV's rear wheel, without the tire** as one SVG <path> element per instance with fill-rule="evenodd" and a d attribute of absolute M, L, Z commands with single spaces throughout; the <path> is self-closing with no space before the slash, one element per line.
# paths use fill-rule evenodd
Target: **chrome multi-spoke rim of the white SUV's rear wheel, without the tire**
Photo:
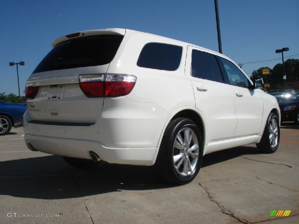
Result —
<path fill-rule="evenodd" d="M 196 134 L 191 128 L 182 128 L 173 144 L 173 165 L 182 176 L 196 171 L 199 146 Z"/>

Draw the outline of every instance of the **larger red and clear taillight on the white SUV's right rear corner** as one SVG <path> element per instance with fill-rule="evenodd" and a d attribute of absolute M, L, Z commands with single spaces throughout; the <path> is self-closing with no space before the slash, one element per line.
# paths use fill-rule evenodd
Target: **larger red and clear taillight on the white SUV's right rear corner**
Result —
<path fill-rule="evenodd" d="M 87 97 L 128 95 L 136 82 L 135 76 L 123 74 L 80 75 L 79 84 Z"/>

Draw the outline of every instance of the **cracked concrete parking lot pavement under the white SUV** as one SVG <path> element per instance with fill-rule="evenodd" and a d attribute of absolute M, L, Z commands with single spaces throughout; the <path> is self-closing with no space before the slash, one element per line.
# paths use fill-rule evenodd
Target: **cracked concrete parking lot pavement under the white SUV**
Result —
<path fill-rule="evenodd" d="M 206 155 L 184 186 L 151 167 L 81 171 L 29 151 L 22 135 L 0 136 L 0 223 L 299 223 L 299 126 L 281 127 L 274 154 L 246 145 Z"/>

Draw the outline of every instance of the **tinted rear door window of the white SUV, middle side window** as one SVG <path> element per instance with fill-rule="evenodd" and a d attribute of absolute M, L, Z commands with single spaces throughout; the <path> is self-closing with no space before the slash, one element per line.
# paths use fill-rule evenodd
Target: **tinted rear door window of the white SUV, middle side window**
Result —
<path fill-rule="evenodd" d="M 224 82 L 220 67 L 213 54 L 200 50 L 192 50 L 191 75 L 200 79 Z"/>

